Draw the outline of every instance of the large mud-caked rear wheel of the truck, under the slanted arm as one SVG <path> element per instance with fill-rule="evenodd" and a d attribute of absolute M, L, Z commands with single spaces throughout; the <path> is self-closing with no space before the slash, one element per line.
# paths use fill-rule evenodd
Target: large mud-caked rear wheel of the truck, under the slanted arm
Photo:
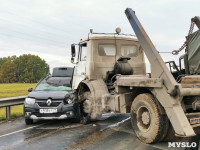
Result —
<path fill-rule="evenodd" d="M 162 140 L 167 132 L 168 118 L 151 94 L 138 95 L 131 106 L 131 124 L 136 136 L 144 143 Z"/>

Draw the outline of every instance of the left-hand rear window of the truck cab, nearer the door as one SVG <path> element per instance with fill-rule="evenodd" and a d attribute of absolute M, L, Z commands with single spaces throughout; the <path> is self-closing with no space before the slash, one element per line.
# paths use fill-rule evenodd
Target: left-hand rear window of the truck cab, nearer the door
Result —
<path fill-rule="evenodd" d="M 100 44 L 98 53 L 100 56 L 115 56 L 116 55 L 115 45 Z"/>

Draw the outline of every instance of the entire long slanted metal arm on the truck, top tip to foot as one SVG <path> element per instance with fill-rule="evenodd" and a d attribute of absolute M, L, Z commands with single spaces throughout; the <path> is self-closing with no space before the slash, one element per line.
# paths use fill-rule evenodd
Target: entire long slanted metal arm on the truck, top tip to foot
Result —
<path fill-rule="evenodd" d="M 164 107 L 175 133 L 181 136 L 194 136 L 194 130 L 188 122 L 181 105 L 181 91 L 183 90 L 181 90 L 180 84 L 175 81 L 171 72 L 165 65 L 163 59 L 137 19 L 135 12 L 131 8 L 127 8 L 125 13 L 151 64 L 152 78 L 160 78 L 162 81 L 162 87 L 152 89 L 152 93 Z"/>

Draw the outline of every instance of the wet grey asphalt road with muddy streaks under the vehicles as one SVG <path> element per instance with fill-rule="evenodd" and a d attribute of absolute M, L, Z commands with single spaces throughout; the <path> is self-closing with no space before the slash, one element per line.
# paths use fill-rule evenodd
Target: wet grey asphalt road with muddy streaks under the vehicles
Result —
<path fill-rule="evenodd" d="M 113 115 L 88 125 L 68 120 L 24 119 L 0 123 L 0 150 L 156 150 L 170 149 L 167 142 L 141 143 L 134 135 L 129 115 Z"/>

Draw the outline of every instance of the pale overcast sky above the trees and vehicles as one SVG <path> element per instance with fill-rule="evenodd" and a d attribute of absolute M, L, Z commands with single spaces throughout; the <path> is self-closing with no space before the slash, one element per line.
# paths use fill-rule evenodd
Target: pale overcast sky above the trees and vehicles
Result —
<path fill-rule="evenodd" d="M 71 44 L 87 38 L 90 29 L 113 33 L 120 27 L 134 34 L 127 7 L 136 12 L 157 50 L 171 52 L 185 41 L 199 6 L 199 0 L 0 0 L 0 57 L 34 54 L 51 70 L 72 66 Z M 179 56 L 161 56 L 178 62 Z"/>

